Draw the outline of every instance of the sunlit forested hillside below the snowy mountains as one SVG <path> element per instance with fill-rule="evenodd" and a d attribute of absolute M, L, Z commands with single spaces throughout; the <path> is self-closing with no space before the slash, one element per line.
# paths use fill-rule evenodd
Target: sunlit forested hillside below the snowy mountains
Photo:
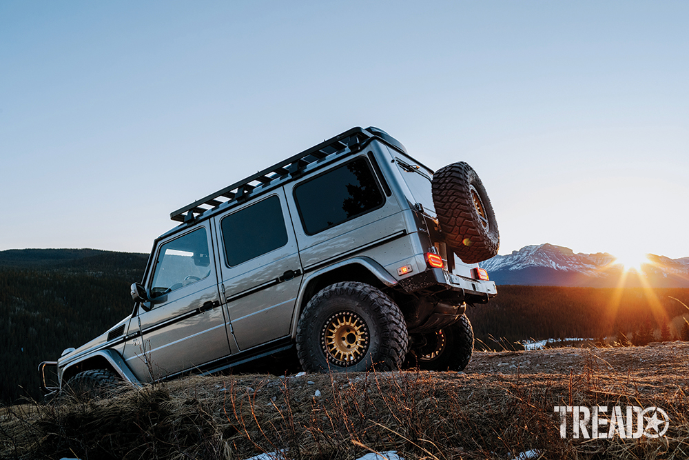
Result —
<path fill-rule="evenodd" d="M 467 310 L 477 339 L 497 349 L 530 338 L 689 339 L 682 317 L 689 318 L 689 289 L 498 286 L 497 292 Z"/>

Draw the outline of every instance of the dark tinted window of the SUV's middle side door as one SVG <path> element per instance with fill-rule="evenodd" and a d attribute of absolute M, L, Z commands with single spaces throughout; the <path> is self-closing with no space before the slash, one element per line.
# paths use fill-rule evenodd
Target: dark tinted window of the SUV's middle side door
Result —
<path fill-rule="evenodd" d="M 229 214 L 220 221 L 220 228 L 231 267 L 287 244 L 285 219 L 276 196 Z"/>

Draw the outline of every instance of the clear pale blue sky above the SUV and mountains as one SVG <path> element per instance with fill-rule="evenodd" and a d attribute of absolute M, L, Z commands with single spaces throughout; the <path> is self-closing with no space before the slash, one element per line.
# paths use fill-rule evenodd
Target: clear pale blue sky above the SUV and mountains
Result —
<path fill-rule="evenodd" d="M 689 256 L 686 1 L 0 2 L 0 250 L 150 252 L 353 126 L 466 161 L 500 254 Z"/>

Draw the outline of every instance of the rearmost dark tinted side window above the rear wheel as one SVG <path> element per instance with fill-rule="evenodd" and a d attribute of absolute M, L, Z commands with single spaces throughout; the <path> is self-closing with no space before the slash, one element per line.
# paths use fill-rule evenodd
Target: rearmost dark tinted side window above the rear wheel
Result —
<path fill-rule="evenodd" d="M 380 207 L 384 201 L 364 158 L 335 168 L 294 188 L 307 234 L 316 234 Z"/>

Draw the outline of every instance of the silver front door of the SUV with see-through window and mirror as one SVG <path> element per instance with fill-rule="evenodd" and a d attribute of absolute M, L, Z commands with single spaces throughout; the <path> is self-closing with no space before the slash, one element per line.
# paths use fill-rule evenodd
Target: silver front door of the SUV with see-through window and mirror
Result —
<path fill-rule="evenodd" d="M 132 343 L 138 350 L 127 358 L 139 379 L 160 379 L 230 354 L 210 225 L 206 221 L 156 247 L 146 280 L 152 309 L 140 308 L 142 340 Z"/>

